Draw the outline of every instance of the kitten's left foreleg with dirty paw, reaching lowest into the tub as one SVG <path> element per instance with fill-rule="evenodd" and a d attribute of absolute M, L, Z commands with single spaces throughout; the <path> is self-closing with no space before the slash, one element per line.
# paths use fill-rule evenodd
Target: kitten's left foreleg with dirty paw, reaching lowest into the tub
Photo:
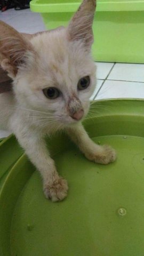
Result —
<path fill-rule="evenodd" d="M 16 137 L 25 149 L 30 161 L 37 167 L 43 178 L 43 190 L 46 198 L 53 202 L 61 201 L 67 196 L 67 181 L 61 177 L 55 168 L 53 159 L 43 138 L 38 138 L 34 132 L 17 132 Z"/>

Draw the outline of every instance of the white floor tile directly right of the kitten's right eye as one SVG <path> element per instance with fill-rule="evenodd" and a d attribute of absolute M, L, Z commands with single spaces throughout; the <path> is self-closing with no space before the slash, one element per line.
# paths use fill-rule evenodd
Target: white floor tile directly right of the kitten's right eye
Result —
<path fill-rule="evenodd" d="M 97 66 L 97 79 L 106 79 L 114 63 L 108 62 L 95 62 Z"/>

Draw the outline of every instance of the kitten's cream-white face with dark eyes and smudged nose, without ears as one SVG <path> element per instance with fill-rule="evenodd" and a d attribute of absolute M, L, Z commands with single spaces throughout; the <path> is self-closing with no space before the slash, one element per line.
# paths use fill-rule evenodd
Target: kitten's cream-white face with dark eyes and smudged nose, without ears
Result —
<path fill-rule="evenodd" d="M 95 88 L 95 64 L 82 42 L 69 42 L 66 30 L 31 40 L 34 53 L 14 83 L 23 107 L 41 110 L 63 124 L 78 122 L 89 110 Z"/>

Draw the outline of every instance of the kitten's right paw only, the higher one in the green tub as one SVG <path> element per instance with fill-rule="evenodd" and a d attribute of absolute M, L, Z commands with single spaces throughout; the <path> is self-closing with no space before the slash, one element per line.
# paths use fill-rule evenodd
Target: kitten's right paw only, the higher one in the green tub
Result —
<path fill-rule="evenodd" d="M 116 159 L 116 151 L 110 146 L 104 145 L 96 148 L 95 152 L 85 154 L 86 158 L 95 163 L 108 164 L 114 162 Z"/>

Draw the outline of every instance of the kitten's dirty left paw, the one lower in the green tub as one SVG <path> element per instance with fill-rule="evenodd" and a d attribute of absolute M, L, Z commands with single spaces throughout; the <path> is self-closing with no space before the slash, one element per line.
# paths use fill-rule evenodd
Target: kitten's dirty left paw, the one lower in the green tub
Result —
<path fill-rule="evenodd" d="M 65 179 L 59 178 L 52 185 L 44 185 L 44 194 L 52 202 L 63 200 L 67 196 L 68 183 Z"/>

